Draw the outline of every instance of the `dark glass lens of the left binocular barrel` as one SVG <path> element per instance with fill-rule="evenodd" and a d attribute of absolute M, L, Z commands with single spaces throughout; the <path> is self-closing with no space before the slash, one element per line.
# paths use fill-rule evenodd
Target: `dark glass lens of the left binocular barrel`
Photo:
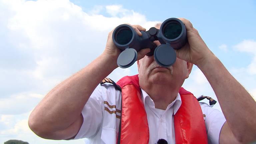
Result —
<path fill-rule="evenodd" d="M 123 27 L 118 30 L 115 40 L 120 45 L 129 43 L 132 39 L 132 30 L 128 27 Z"/>

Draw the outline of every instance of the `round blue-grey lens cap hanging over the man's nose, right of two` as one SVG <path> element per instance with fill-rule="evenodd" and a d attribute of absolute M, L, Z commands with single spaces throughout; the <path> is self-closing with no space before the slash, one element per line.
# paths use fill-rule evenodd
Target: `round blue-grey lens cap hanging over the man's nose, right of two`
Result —
<path fill-rule="evenodd" d="M 169 67 L 176 61 L 174 49 L 166 44 L 159 45 L 154 52 L 156 62 L 162 67 Z"/>

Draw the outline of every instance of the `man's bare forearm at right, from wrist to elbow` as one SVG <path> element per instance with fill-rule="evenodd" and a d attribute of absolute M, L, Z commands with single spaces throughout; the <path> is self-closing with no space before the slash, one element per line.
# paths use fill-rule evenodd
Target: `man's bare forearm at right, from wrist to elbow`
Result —
<path fill-rule="evenodd" d="M 211 84 L 227 123 L 242 142 L 256 138 L 256 102 L 244 87 L 212 55 L 197 65 Z"/>

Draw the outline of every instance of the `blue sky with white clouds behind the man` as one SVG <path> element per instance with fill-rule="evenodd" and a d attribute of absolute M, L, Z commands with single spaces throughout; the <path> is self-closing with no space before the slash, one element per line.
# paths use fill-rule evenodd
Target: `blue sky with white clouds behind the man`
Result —
<path fill-rule="evenodd" d="M 0 0 L 0 143 L 9 139 L 84 143 L 42 139 L 29 129 L 28 117 L 54 86 L 97 58 L 108 32 L 123 23 L 148 30 L 171 17 L 190 20 L 209 49 L 255 98 L 255 16 L 253 0 Z M 117 81 L 134 74 L 136 64 L 117 68 L 108 77 Z M 217 100 L 196 66 L 183 87 L 196 97 Z M 218 103 L 214 108 L 221 110 Z"/>

